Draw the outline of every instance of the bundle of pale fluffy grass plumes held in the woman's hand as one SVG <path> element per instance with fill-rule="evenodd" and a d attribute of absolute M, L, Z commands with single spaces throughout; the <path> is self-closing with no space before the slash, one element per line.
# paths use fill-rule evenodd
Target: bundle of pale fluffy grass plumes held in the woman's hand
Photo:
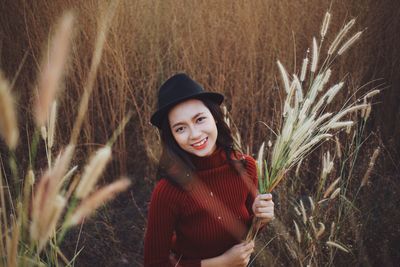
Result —
<path fill-rule="evenodd" d="M 331 14 L 327 12 L 321 27 L 319 44 L 317 38 L 313 38 L 311 64 L 309 64 L 307 50 L 299 75 L 290 76 L 281 62 L 277 62 L 286 99 L 283 124 L 279 134 L 276 134 L 270 160 L 265 159 L 264 156 L 265 143 L 262 144 L 258 153 L 259 192 L 262 194 L 271 192 L 284 178 L 285 173 L 299 164 L 317 145 L 332 138 L 338 130 L 351 127 L 354 121 L 345 120 L 347 115 L 359 110 L 364 116 L 369 114 L 371 104 L 367 101 L 379 93 L 379 90 L 370 91 L 363 96 L 362 104 L 357 104 L 359 101 L 353 103 L 346 101 L 339 111 L 326 112 L 327 106 L 345 87 L 344 81 L 338 83 L 329 81 L 332 73 L 331 66 L 335 59 L 352 46 L 362 34 L 360 31 L 346 39 L 355 23 L 355 19 L 352 19 L 340 30 L 329 46 L 325 60 L 320 64 L 321 47 L 330 18 Z M 272 146 L 270 142 L 269 145 Z M 258 227 L 254 227 L 256 223 L 257 220 L 253 222 L 247 240 L 256 236 L 258 230 Z"/>

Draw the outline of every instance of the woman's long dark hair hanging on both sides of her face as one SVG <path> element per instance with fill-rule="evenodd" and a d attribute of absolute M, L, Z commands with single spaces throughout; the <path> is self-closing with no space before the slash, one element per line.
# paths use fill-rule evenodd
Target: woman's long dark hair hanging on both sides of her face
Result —
<path fill-rule="evenodd" d="M 237 164 L 243 168 L 246 161 L 236 157 L 232 131 L 224 120 L 224 114 L 221 107 L 207 98 L 197 98 L 210 110 L 214 117 L 218 136 L 216 140 L 217 147 L 222 148 L 226 153 L 228 163 L 238 171 Z M 184 151 L 175 141 L 172 135 L 168 117 L 165 116 L 160 129 L 162 154 L 158 164 L 157 178 L 166 178 L 175 185 L 185 188 L 192 181 L 192 173 L 196 170 L 192 163 L 189 153 Z"/>

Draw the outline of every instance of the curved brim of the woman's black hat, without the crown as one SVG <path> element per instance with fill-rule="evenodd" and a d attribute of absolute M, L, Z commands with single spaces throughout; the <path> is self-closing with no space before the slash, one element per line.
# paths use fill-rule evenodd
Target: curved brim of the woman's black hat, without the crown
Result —
<path fill-rule="evenodd" d="M 202 92 L 202 93 L 196 93 L 194 95 L 188 95 L 185 97 L 177 98 L 174 99 L 173 102 L 167 103 L 164 106 L 160 107 L 150 118 L 151 124 L 156 126 L 157 128 L 161 128 L 162 121 L 165 116 L 168 115 L 168 111 L 175 105 L 188 100 L 188 99 L 209 99 L 218 105 L 221 105 L 221 103 L 224 101 L 224 96 L 220 93 L 214 93 L 214 92 Z"/>

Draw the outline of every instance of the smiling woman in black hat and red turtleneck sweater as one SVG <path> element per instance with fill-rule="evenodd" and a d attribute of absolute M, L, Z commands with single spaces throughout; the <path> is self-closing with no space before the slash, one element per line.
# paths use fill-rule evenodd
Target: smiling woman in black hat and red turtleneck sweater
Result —
<path fill-rule="evenodd" d="M 253 216 L 272 220 L 270 194 L 256 196 L 253 158 L 234 149 L 220 104 L 186 74 L 159 89 L 151 123 L 160 129 L 160 181 L 153 190 L 144 244 L 145 266 L 246 266 L 244 242 Z"/>

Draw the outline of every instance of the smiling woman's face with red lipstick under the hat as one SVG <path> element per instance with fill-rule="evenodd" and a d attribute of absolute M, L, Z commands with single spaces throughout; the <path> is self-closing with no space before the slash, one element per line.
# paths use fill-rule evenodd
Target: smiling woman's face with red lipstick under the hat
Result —
<path fill-rule="evenodd" d="M 179 103 L 169 111 L 168 120 L 173 137 L 186 152 L 205 157 L 215 151 L 217 125 L 202 101 L 189 99 Z"/>

